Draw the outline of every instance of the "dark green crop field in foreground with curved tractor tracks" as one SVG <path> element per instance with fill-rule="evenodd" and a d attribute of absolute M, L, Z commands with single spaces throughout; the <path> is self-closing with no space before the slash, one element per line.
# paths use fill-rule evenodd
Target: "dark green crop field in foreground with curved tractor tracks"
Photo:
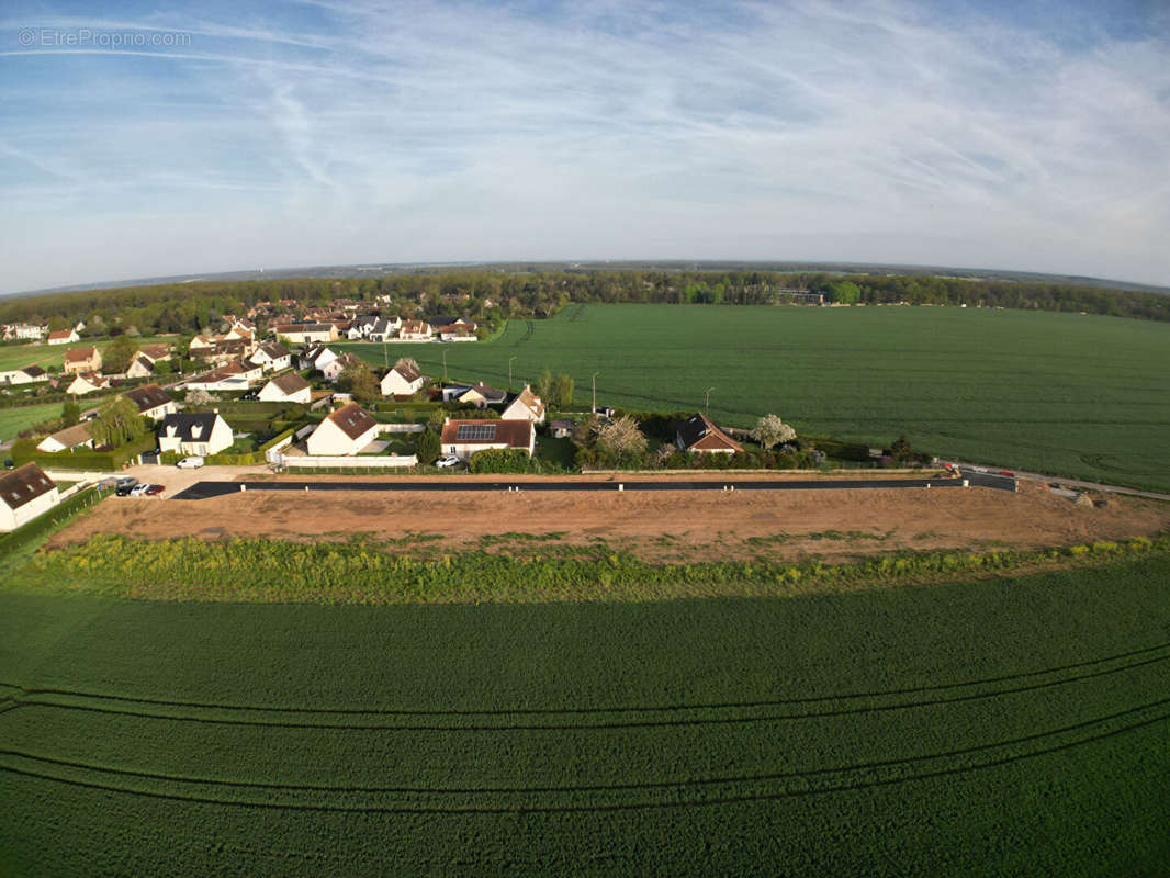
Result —
<path fill-rule="evenodd" d="M 376 608 L 9 589 L 5 872 L 1152 874 L 1168 579 Z"/>

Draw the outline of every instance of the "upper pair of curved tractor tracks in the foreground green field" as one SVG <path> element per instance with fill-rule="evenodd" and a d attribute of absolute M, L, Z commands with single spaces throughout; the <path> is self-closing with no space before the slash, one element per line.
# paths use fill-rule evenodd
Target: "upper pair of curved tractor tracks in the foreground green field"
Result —
<path fill-rule="evenodd" d="M 183 701 L 164 701 L 164 700 L 152 700 L 152 699 L 135 699 L 123 695 L 104 697 L 92 693 L 82 692 L 70 692 L 66 690 L 26 690 L 14 698 L 13 704 L 8 709 L 16 707 L 40 707 L 49 709 L 62 709 L 62 711 L 76 711 L 82 713 L 97 713 L 105 715 L 117 715 L 117 716 L 131 716 L 136 719 L 152 719 L 163 720 L 171 722 L 193 722 L 201 725 L 213 725 L 213 726 L 243 726 L 243 727 L 257 727 L 257 728 L 292 728 L 292 729 L 318 729 L 318 730 L 355 730 L 355 732 L 427 732 L 427 733 L 479 733 L 479 732 L 590 732 L 590 730 L 615 730 L 615 729 L 633 729 L 633 728 L 675 728 L 675 727 L 702 727 L 702 726 L 729 726 L 729 725 L 749 725 L 757 722 L 786 722 L 797 720 L 813 720 L 813 719 L 833 719 L 840 716 L 852 716 L 869 713 L 889 713 L 894 711 L 907 711 L 907 709 L 920 709 L 927 707 L 937 707 L 943 705 L 955 705 L 965 704 L 971 701 L 980 701 L 991 698 L 1002 698 L 1005 695 L 1023 694 L 1026 692 L 1039 692 L 1044 690 L 1054 688 L 1058 686 L 1066 686 L 1069 684 L 1081 682 L 1089 679 L 1097 679 L 1102 677 L 1108 677 L 1117 673 L 1124 673 L 1128 671 L 1137 670 L 1141 667 L 1148 667 L 1157 665 L 1170 660 L 1170 645 L 1162 645 L 1149 647 L 1147 650 L 1131 651 L 1129 653 L 1122 653 L 1120 657 L 1110 657 L 1104 659 L 1096 659 L 1093 661 L 1076 663 L 1075 665 L 1065 666 L 1061 670 L 1079 670 L 1083 667 L 1089 667 L 1094 665 L 1101 665 L 1109 661 L 1117 661 L 1121 658 L 1133 658 L 1138 654 L 1145 654 L 1149 652 L 1163 651 L 1166 654 L 1154 656 L 1150 658 L 1144 658 L 1138 661 L 1130 661 L 1128 664 L 1121 665 L 1120 667 L 1107 667 L 1095 671 L 1088 671 L 1085 673 L 1079 673 L 1074 675 L 1062 677 L 1057 680 L 1046 680 L 1040 682 L 1030 682 L 1018 686 L 999 687 L 992 688 L 990 691 L 963 693 L 957 695 L 945 695 L 941 698 L 930 699 L 917 699 L 909 701 L 895 701 L 893 704 L 886 705 L 861 705 L 853 707 L 838 707 L 834 709 L 821 709 L 821 711 L 805 711 L 798 713 L 775 713 L 775 714 L 757 714 L 746 716 L 691 716 L 691 718 L 677 718 L 673 716 L 669 719 L 631 719 L 631 720 L 619 720 L 619 721 L 604 721 L 604 722 L 526 722 L 526 723 L 411 723 L 411 722 L 315 722 L 315 721 L 302 721 L 292 722 L 282 719 L 252 719 L 252 718 L 232 718 L 232 716 L 199 716 L 199 715 L 183 715 L 179 713 L 166 713 L 159 711 L 149 709 L 131 709 L 119 706 L 121 704 L 138 704 L 138 705 L 151 705 L 160 707 L 177 707 L 187 708 L 197 711 L 221 711 L 221 712 L 248 712 L 248 713 L 273 713 L 277 715 L 300 713 L 307 716 L 316 715 L 344 715 L 344 716 L 441 716 L 441 718 L 456 718 L 456 716 L 501 716 L 507 719 L 514 715 L 563 715 L 563 716 L 581 716 L 581 715 L 605 715 L 606 713 L 612 714 L 614 708 L 569 708 L 569 709 L 545 709 L 539 713 L 535 711 L 498 711 L 490 713 L 477 713 L 477 712 L 407 712 L 407 711 L 355 711 L 355 709 L 314 709 L 314 708 L 289 708 L 289 707 L 262 707 L 256 705 L 206 705 L 197 702 L 183 702 Z M 1017 675 L 998 677 L 992 678 L 992 682 L 1011 682 L 1013 680 L 1024 680 L 1028 678 L 1034 678 L 1042 674 L 1060 673 L 1061 670 L 1048 670 L 1048 671 L 1033 671 L 1026 672 Z M 826 704 L 834 701 L 845 700 L 856 700 L 856 699 L 878 699 L 878 698 L 890 698 L 901 694 L 914 694 L 916 692 L 944 692 L 952 688 L 970 687 L 989 685 L 987 681 L 969 681 L 958 684 L 942 684 L 938 686 L 930 687 L 918 687 L 910 690 L 889 690 L 885 692 L 874 693 L 858 693 L 858 694 L 846 694 L 846 695 L 825 695 L 817 698 L 804 698 L 804 699 L 789 699 L 789 700 L 775 700 L 775 701 L 751 701 L 751 702 L 739 702 L 729 705 L 691 705 L 691 706 L 666 706 L 666 707 L 624 707 L 617 708 L 622 713 L 679 713 L 679 712 L 690 712 L 690 711 L 757 711 L 760 708 L 769 707 L 782 707 L 786 705 L 813 705 L 813 704 Z M 44 700 L 44 695 L 56 695 L 64 698 L 78 698 L 78 699 L 90 699 L 90 700 L 105 700 L 115 701 L 111 705 L 101 704 L 73 704 L 62 702 L 54 700 Z"/>

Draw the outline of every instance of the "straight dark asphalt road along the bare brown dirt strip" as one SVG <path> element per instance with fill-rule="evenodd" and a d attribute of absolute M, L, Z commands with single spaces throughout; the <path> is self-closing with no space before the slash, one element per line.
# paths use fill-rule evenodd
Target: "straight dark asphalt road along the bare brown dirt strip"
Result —
<path fill-rule="evenodd" d="M 963 474 L 968 478 L 968 474 Z M 971 485 L 1016 491 L 1016 480 L 972 473 Z M 576 481 L 542 479 L 539 481 L 200 481 L 179 492 L 173 500 L 206 500 L 241 491 L 853 491 L 858 488 L 959 488 L 963 479 L 805 479 L 805 480 L 684 480 L 660 481 Z"/>

